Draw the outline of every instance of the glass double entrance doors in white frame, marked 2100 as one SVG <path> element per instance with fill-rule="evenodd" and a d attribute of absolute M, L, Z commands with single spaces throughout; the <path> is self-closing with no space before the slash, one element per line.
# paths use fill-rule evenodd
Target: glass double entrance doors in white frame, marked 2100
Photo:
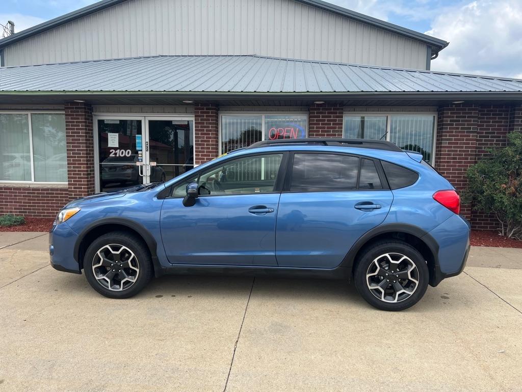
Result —
<path fill-rule="evenodd" d="M 194 167 L 194 121 L 179 117 L 94 116 L 96 191 L 167 181 Z"/>

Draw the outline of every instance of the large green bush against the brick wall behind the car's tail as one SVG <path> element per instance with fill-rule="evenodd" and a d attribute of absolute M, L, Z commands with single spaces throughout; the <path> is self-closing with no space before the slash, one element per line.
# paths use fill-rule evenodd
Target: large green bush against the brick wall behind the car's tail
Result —
<path fill-rule="evenodd" d="M 522 133 L 508 134 L 507 146 L 468 169 L 466 195 L 480 210 L 495 214 L 500 234 L 522 239 Z"/>

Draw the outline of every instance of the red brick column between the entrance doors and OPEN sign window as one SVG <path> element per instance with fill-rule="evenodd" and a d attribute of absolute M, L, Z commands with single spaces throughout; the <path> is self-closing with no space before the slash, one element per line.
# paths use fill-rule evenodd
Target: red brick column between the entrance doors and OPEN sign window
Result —
<path fill-rule="evenodd" d="M 196 103 L 194 108 L 194 164 L 200 165 L 219 155 L 218 107 Z"/>

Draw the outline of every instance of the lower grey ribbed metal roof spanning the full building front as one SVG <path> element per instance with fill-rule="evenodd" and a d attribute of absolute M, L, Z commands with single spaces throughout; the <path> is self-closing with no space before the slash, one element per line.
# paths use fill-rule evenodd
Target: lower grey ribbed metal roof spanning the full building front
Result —
<path fill-rule="evenodd" d="M 522 80 L 262 56 L 152 56 L 0 68 L 0 93 L 522 92 Z"/>

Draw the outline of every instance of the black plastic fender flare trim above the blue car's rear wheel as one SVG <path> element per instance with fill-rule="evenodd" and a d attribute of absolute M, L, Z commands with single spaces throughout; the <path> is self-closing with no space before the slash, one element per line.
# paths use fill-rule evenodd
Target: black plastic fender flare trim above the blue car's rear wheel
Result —
<path fill-rule="evenodd" d="M 352 268 L 355 261 L 355 256 L 359 250 L 361 250 L 361 248 L 367 244 L 368 241 L 378 235 L 393 232 L 407 233 L 419 238 L 419 240 L 421 240 L 430 249 L 433 255 L 435 266 L 438 266 L 438 244 L 437 241 L 435 241 L 435 239 L 428 232 L 426 232 L 426 230 L 407 223 L 390 223 L 376 226 L 364 233 L 357 241 L 355 241 L 355 244 L 353 244 L 345 258 L 341 261 L 339 267 Z"/>

